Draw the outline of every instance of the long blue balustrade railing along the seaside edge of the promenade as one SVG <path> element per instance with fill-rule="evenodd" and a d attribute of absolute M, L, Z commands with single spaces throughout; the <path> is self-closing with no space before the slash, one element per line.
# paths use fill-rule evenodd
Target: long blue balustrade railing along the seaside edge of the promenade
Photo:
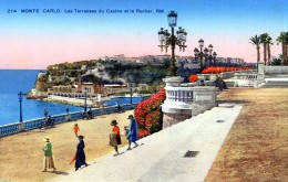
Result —
<path fill-rule="evenodd" d="M 122 105 L 122 108 L 124 110 L 130 110 L 130 109 L 135 108 L 136 105 L 137 104 L 135 104 L 135 103 L 132 105 L 126 104 L 126 105 Z M 116 106 L 96 108 L 96 109 L 92 109 L 92 114 L 94 117 L 101 116 L 101 115 L 113 114 L 113 113 L 115 113 L 115 108 L 116 108 Z M 52 119 L 54 119 L 55 124 L 62 124 L 62 122 L 68 122 L 68 121 L 72 121 L 72 120 L 82 119 L 82 111 L 71 113 L 69 115 L 63 114 L 63 115 L 52 116 Z M 1 126 L 0 127 L 0 137 L 13 135 L 13 133 L 17 133 L 20 131 L 38 129 L 39 126 L 44 120 L 45 120 L 45 118 L 38 118 L 38 119 L 27 120 L 23 122 Z"/>

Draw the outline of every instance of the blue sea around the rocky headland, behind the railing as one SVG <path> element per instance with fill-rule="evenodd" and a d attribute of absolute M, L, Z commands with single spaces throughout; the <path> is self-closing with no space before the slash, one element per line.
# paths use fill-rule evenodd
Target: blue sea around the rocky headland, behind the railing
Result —
<path fill-rule="evenodd" d="M 18 93 L 28 93 L 34 87 L 40 69 L 0 69 L 0 126 L 20 121 L 20 101 Z M 138 103 L 143 97 L 133 97 L 133 103 Z M 107 106 L 115 106 L 116 101 L 130 104 L 130 97 L 117 97 L 103 101 Z M 44 109 L 49 115 L 65 113 L 66 105 L 43 101 L 39 99 L 22 98 L 22 119 L 31 120 L 44 117 Z M 81 111 L 83 107 L 69 106 L 69 111 Z"/>

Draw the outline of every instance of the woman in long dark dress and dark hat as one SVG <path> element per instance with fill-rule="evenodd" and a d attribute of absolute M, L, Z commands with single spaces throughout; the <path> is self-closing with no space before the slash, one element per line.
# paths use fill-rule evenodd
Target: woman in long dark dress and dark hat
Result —
<path fill-rule="evenodd" d="M 85 148 L 85 143 L 84 143 L 84 137 L 83 136 L 79 136 L 79 143 L 78 143 L 78 148 L 76 148 L 76 157 L 75 157 L 75 171 L 79 170 L 79 168 L 81 168 L 82 165 L 88 165 L 86 163 L 86 156 L 84 152 L 84 148 Z"/>

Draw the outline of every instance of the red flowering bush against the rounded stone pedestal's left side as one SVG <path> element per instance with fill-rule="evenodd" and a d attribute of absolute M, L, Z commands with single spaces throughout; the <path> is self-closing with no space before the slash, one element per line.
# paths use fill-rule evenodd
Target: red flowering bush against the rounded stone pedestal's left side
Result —
<path fill-rule="evenodd" d="M 134 114 L 138 127 L 138 138 L 146 137 L 162 129 L 163 115 L 161 105 L 165 98 L 165 89 L 161 88 L 156 94 L 137 105 Z"/>

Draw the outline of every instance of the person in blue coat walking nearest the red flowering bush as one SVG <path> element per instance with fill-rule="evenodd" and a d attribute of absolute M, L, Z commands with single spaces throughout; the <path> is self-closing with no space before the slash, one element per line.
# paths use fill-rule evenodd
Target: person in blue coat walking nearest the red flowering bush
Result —
<path fill-rule="evenodd" d="M 127 128 L 127 140 L 128 140 L 127 150 L 131 150 L 131 142 L 133 142 L 135 144 L 134 148 L 138 147 L 138 144 L 136 143 L 136 140 L 138 139 L 137 124 L 136 124 L 136 120 L 134 119 L 133 115 L 130 115 L 127 119 L 130 119 L 130 125 Z"/>

